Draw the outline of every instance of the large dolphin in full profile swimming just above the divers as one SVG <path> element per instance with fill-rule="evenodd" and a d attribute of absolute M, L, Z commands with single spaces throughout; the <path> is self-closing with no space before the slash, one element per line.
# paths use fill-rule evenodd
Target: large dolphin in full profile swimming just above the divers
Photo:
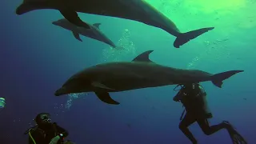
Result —
<path fill-rule="evenodd" d="M 56 90 L 55 95 L 94 92 L 102 102 L 117 105 L 119 102 L 110 98 L 109 92 L 206 81 L 222 87 L 222 81 L 243 71 L 210 74 L 202 70 L 175 69 L 151 62 L 151 52 L 153 50 L 138 55 L 132 62 L 109 62 L 82 70 Z"/>

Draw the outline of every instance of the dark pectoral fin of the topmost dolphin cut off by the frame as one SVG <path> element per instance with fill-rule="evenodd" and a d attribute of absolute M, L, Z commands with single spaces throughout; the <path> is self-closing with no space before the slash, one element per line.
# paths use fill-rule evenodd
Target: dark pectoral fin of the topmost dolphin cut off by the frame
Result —
<path fill-rule="evenodd" d="M 65 9 L 59 11 L 69 22 L 73 23 L 74 25 L 90 29 L 90 26 L 86 22 L 82 22 L 82 20 L 78 17 L 78 13 L 74 10 Z"/>

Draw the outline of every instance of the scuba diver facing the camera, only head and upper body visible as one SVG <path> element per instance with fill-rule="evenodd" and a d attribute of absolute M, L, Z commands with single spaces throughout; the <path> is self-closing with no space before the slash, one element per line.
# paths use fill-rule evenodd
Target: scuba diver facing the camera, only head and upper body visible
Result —
<path fill-rule="evenodd" d="M 29 134 L 29 144 L 72 144 L 64 138 L 68 136 L 68 132 L 56 122 L 51 122 L 50 114 L 40 113 L 34 118 L 36 125 L 26 130 L 24 134 Z"/>

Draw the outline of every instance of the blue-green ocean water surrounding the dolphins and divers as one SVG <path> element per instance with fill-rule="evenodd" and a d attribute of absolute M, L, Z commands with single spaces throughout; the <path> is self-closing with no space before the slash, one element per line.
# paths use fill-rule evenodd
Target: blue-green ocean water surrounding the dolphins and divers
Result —
<path fill-rule="evenodd" d="M 256 14 L 254 0 L 148 0 L 172 19 L 182 32 L 201 27 L 215 29 L 173 47 L 174 36 L 164 30 L 121 18 L 79 14 L 82 20 L 102 23 L 101 30 L 125 50 L 111 50 L 102 42 L 82 37 L 78 42 L 68 30 L 54 26 L 57 10 L 36 10 L 18 16 L 20 0 L 1 2 L 1 87 L 6 108 L 0 113 L 0 142 L 26 143 L 24 131 L 36 114 L 49 112 L 70 132 L 68 139 L 91 144 L 190 143 L 178 129 L 182 105 L 173 102 L 174 86 L 130 90 L 111 94 L 120 102 L 110 106 L 93 93 L 54 97 L 54 91 L 79 70 L 101 62 L 130 61 L 146 50 L 159 64 L 212 74 L 245 70 L 224 82 L 222 89 L 202 82 L 214 118 L 229 120 L 253 144 L 256 132 L 254 56 Z M 198 142 L 231 143 L 226 130 L 206 136 L 195 123 L 190 126 Z"/>

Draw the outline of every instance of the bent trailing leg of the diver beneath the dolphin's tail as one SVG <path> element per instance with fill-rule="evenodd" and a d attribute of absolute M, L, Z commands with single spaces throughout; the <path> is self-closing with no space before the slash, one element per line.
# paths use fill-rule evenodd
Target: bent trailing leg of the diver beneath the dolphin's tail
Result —
<path fill-rule="evenodd" d="M 226 129 L 228 124 L 226 122 L 219 123 L 218 125 L 210 126 L 206 118 L 197 119 L 198 125 L 206 135 L 214 134 L 218 130 Z"/>

